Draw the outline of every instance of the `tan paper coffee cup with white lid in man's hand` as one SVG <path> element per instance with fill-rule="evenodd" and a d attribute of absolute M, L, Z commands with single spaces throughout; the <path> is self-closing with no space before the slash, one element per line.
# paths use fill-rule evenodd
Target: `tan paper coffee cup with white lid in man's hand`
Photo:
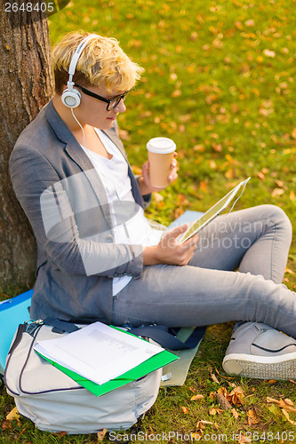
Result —
<path fill-rule="evenodd" d="M 148 141 L 147 149 L 151 185 L 158 188 L 169 185 L 175 142 L 168 138 L 154 138 Z"/>

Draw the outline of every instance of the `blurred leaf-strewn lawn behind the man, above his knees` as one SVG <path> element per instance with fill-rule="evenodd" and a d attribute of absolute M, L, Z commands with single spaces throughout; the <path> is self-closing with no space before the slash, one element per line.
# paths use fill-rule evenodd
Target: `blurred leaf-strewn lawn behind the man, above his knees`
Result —
<path fill-rule="evenodd" d="M 130 163 L 139 170 L 156 136 L 175 140 L 180 161 L 151 217 L 168 224 L 206 210 L 251 176 L 236 209 L 274 203 L 294 223 L 295 9 L 293 0 L 73 0 L 50 18 L 52 44 L 76 29 L 113 36 L 145 68 L 118 118 Z"/>

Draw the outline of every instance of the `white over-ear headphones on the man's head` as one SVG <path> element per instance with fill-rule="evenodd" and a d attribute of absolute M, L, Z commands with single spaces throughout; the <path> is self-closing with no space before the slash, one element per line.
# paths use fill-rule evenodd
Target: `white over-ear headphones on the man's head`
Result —
<path fill-rule="evenodd" d="M 81 53 L 84 51 L 84 48 L 86 44 L 93 38 L 97 38 L 98 36 L 96 34 L 91 34 L 90 36 L 87 36 L 78 44 L 76 48 L 76 52 L 74 52 L 74 55 L 71 59 L 70 66 L 68 68 L 68 83 L 67 88 L 63 93 L 61 94 L 61 101 L 66 107 L 69 108 L 76 108 L 79 107 L 80 101 L 81 101 L 81 94 L 78 90 L 74 89 L 73 86 L 75 83 L 72 81 L 73 75 L 75 75 L 76 66 L 79 57 L 81 56 Z"/>

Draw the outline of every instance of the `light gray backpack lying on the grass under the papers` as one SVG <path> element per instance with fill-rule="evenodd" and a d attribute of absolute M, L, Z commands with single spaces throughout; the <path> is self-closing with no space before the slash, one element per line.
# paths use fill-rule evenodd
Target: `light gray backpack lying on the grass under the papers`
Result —
<path fill-rule="evenodd" d="M 99 397 L 78 385 L 33 350 L 36 341 L 61 337 L 38 321 L 20 324 L 8 353 L 4 382 L 20 415 L 40 430 L 92 433 L 128 429 L 157 397 L 162 369 Z"/>

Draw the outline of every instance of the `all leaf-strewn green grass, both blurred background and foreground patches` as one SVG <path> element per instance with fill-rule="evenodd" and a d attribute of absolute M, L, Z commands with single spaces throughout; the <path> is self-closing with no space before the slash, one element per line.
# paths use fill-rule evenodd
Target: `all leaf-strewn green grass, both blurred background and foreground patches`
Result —
<path fill-rule="evenodd" d="M 150 218 L 168 225 L 183 210 L 205 210 L 240 179 L 252 176 L 236 209 L 274 203 L 295 226 L 295 19 L 294 0 L 73 0 L 52 16 L 52 44 L 79 28 L 115 36 L 145 67 L 142 82 L 126 99 L 127 112 L 118 119 L 130 162 L 140 167 L 148 139 L 159 135 L 176 141 L 180 161 L 180 178 L 162 192 L 164 201 L 152 202 Z M 295 259 L 293 241 L 291 272 L 284 277 L 290 289 L 296 288 Z M 143 432 L 186 434 L 196 432 L 203 420 L 212 423 L 204 424 L 204 436 L 211 435 L 207 442 L 221 442 L 214 434 L 223 433 L 228 442 L 237 442 L 232 434 L 239 432 L 259 432 L 252 442 L 279 443 L 276 432 L 284 443 L 295 441 L 282 435 L 296 434 L 295 426 L 266 401 L 269 396 L 296 403 L 292 382 L 231 378 L 221 369 L 232 325 L 208 329 L 186 384 L 161 390 L 144 418 Z M 212 380 L 211 369 L 219 384 Z M 229 384 L 244 390 L 244 404 L 235 406 L 238 418 L 230 411 L 210 415 L 209 409 L 218 406 L 210 393 L 220 386 L 229 392 Z M 204 399 L 190 401 L 194 393 L 204 394 Z M 13 402 L 4 393 L 0 402 L 3 421 Z M 256 411 L 256 424 L 248 424 L 250 409 Z M 295 414 L 291 418 L 296 420 Z M 59 438 L 39 432 L 25 419 L 20 426 L 11 425 L 2 431 L 0 442 L 97 442 L 96 435 Z M 171 438 L 172 443 L 185 442 Z"/>

